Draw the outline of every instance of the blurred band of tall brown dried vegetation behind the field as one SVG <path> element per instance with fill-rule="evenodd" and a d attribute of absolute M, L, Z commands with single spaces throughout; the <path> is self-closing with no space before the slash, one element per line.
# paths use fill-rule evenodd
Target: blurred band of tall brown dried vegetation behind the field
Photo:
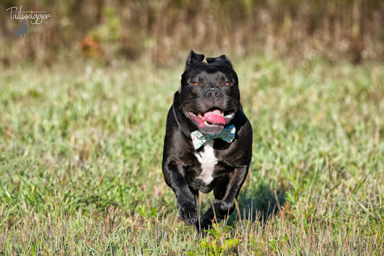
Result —
<path fill-rule="evenodd" d="M 10 7 L 44 10 L 13 38 Z M 0 2 L 0 63 L 50 66 L 73 58 L 180 63 L 189 50 L 212 55 L 265 54 L 288 65 L 317 55 L 333 62 L 384 59 L 382 0 L 105 0 Z"/>

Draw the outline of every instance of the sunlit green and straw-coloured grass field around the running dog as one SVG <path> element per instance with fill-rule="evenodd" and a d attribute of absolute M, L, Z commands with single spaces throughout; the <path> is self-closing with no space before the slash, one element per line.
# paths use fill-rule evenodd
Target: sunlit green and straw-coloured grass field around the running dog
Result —
<path fill-rule="evenodd" d="M 383 255 L 384 64 L 231 59 L 253 158 L 205 238 L 161 172 L 184 63 L 0 72 L 0 255 Z"/>

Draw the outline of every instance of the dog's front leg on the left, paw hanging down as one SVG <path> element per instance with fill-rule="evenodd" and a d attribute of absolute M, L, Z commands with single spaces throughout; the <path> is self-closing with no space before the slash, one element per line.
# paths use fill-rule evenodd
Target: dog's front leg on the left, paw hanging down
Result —
<path fill-rule="evenodd" d="M 179 168 L 183 168 L 179 166 Z M 184 171 L 183 171 L 184 173 Z M 163 166 L 164 180 L 176 194 L 176 204 L 179 210 L 179 216 L 185 224 L 198 226 L 198 214 L 196 206 L 196 197 L 199 191 L 191 188 L 184 176 L 178 170 L 178 166 L 168 163 Z"/>

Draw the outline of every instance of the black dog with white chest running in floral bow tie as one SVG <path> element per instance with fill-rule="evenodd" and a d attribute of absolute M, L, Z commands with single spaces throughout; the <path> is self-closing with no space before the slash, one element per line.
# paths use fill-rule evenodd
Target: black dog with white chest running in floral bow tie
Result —
<path fill-rule="evenodd" d="M 179 91 L 167 116 L 162 171 L 176 194 L 180 219 L 199 229 L 199 190 L 214 190 L 213 206 L 202 228 L 214 215 L 233 212 L 233 199 L 247 177 L 252 157 L 252 127 L 240 105 L 238 79 L 225 55 L 207 58 L 191 51 Z M 197 131 L 196 131 L 197 130 Z M 215 211 L 215 213 L 214 213 Z"/>

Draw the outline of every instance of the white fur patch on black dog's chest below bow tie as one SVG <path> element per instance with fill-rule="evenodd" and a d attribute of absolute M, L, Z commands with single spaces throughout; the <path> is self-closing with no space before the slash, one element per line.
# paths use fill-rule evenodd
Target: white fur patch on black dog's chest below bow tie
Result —
<path fill-rule="evenodd" d="M 215 165 L 217 164 L 217 158 L 214 152 L 214 140 L 205 142 L 204 150 L 196 152 L 195 156 L 201 164 L 201 173 L 196 178 L 201 179 L 205 184 L 211 183 L 214 179 L 212 174 L 214 172 Z"/>

